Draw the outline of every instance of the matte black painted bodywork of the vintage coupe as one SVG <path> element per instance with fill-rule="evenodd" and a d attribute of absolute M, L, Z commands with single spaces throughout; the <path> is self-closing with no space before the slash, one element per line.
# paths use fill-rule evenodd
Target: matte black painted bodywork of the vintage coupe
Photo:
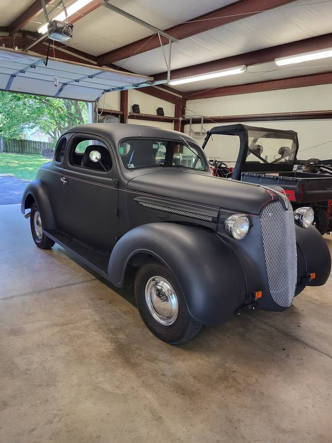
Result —
<path fill-rule="evenodd" d="M 227 321 L 250 303 L 253 291 L 264 294 L 258 307 L 283 310 L 269 292 L 259 218 L 263 207 L 279 195 L 257 185 L 214 178 L 210 171 L 128 170 L 122 165 L 119 143 L 140 135 L 172 140 L 181 136 L 196 145 L 181 132 L 155 127 L 94 124 L 72 128 L 64 135 L 63 160 L 42 166 L 37 179 L 28 185 L 22 212 L 33 196 L 46 235 L 115 285 L 123 285 L 126 266 L 136 254 L 158 258 L 178 280 L 191 315 L 204 324 Z M 110 175 L 71 164 L 69 150 L 76 136 L 105 144 L 112 156 Z M 164 206 L 172 212 L 164 211 Z M 234 213 L 244 213 L 250 220 L 250 231 L 241 241 L 224 230 L 224 220 Z M 307 272 L 317 273 L 312 284 L 325 283 L 331 257 L 314 228 L 297 228 L 296 232 L 299 293 Z"/>

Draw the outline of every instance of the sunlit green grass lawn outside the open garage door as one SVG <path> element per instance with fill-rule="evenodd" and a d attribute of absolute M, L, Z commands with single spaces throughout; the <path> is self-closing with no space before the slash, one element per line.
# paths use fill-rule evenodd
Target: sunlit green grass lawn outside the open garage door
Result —
<path fill-rule="evenodd" d="M 50 161 L 38 154 L 0 153 L 0 174 L 10 174 L 23 180 L 33 180 L 36 172 L 44 163 Z"/>

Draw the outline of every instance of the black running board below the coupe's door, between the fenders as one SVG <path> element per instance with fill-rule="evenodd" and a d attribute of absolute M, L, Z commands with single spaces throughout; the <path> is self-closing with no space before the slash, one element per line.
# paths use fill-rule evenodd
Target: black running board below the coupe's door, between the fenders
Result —
<path fill-rule="evenodd" d="M 110 254 L 97 251 L 75 238 L 68 237 L 60 231 L 43 230 L 43 232 L 48 238 L 56 242 L 63 249 L 73 253 L 93 271 L 108 279 L 107 268 Z"/>

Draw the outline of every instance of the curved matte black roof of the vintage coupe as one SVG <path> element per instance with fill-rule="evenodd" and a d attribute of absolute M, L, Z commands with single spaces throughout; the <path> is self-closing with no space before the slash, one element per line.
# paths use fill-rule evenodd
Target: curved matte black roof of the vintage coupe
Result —
<path fill-rule="evenodd" d="M 179 140 L 183 137 L 187 142 L 197 142 L 183 132 L 173 131 L 171 129 L 161 129 L 153 126 L 132 125 L 125 123 L 91 123 L 88 125 L 80 125 L 70 128 L 67 133 L 83 132 L 91 135 L 101 135 L 108 140 L 118 144 L 123 138 L 130 137 L 150 137 L 150 138 L 166 138 L 171 140 Z"/>

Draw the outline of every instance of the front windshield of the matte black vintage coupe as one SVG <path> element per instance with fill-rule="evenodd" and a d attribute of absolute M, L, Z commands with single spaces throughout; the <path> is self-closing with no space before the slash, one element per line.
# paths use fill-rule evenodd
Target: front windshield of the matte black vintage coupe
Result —
<path fill-rule="evenodd" d="M 177 140 L 130 138 L 119 145 L 123 166 L 127 169 L 179 167 L 206 170 L 207 164 L 198 147 Z"/>

